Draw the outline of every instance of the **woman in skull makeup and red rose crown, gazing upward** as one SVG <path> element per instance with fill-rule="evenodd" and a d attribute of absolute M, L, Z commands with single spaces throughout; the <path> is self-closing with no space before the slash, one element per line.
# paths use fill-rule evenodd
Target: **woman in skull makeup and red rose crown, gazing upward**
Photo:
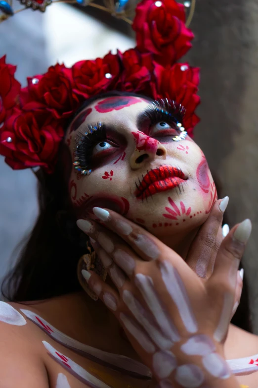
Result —
<path fill-rule="evenodd" d="M 181 8 L 169 4 L 175 17 Z M 139 4 L 141 22 L 149 7 Z M 257 336 L 229 325 L 251 222 L 221 242 L 228 198 L 217 200 L 189 136 L 196 71 L 169 68 L 174 82 L 186 79 L 183 97 L 167 98 L 166 53 L 148 62 L 138 44 L 121 62 L 103 60 L 119 63 L 119 76 L 112 83 L 116 66 L 105 67 L 92 93 L 79 62 L 30 79 L 13 105 L 1 97 L 0 152 L 13 168 L 41 166 L 40 216 L 6 279 L 11 302 L 0 302 L 1 387 L 256 387 Z M 144 60 L 136 84 L 132 54 Z"/>

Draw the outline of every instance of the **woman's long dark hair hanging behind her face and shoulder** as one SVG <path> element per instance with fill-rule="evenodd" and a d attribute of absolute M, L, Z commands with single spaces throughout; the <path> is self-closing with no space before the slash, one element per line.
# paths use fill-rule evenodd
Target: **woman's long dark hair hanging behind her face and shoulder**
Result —
<path fill-rule="evenodd" d="M 113 91 L 86 100 L 74 117 L 93 101 L 109 96 L 138 96 L 152 101 L 146 96 Z M 82 289 L 77 277 L 77 264 L 79 258 L 86 253 L 87 238 L 77 228 L 69 201 L 69 168 L 72 168 L 71 155 L 63 145 L 60 147 L 54 173 L 49 175 L 39 171 L 39 217 L 31 234 L 24 241 L 17 263 L 1 286 L 2 295 L 9 301 L 38 301 Z M 219 195 L 217 182 L 216 186 Z M 233 323 L 250 331 L 245 283 L 239 310 Z"/>

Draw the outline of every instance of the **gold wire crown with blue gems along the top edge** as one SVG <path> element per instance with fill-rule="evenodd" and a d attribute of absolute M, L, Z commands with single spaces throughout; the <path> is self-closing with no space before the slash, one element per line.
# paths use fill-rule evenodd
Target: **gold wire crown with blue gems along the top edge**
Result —
<path fill-rule="evenodd" d="M 0 23 L 8 19 L 10 16 L 13 16 L 18 12 L 24 11 L 27 8 L 32 8 L 33 10 L 38 9 L 44 12 L 47 5 L 62 2 L 95 7 L 106 11 L 115 17 L 123 19 L 129 24 L 132 24 L 134 6 L 130 6 L 129 0 L 102 0 L 103 5 L 97 4 L 94 1 L 95 0 L 20 0 L 21 4 L 23 4 L 24 7 L 14 11 L 12 8 L 13 0 L 0 0 Z M 196 0 L 178 1 L 182 3 L 185 7 L 187 15 L 187 27 L 190 25 L 191 20 L 193 18 L 195 1 Z M 157 0 L 156 2 L 162 4 L 162 1 L 160 0 Z"/>

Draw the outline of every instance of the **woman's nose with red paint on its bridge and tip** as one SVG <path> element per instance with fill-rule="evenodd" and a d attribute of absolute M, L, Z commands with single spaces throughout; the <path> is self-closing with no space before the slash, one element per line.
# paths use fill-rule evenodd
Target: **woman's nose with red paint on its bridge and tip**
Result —
<path fill-rule="evenodd" d="M 166 148 L 153 137 L 137 131 L 132 132 L 136 147 L 130 157 L 130 166 L 132 169 L 142 167 L 144 163 L 150 163 L 155 159 L 166 159 Z"/>

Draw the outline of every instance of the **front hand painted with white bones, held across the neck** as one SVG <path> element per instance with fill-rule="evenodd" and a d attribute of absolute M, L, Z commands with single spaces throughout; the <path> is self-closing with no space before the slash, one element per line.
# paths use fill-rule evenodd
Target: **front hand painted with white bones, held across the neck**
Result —
<path fill-rule="evenodd" d="M 234 226 L 202 281 L 172 249 L 113 211 L 93 209 L 106 228 L 79 220 L 116 289 L 94 273 L 89 286 L 115 314 L 161 388 L 235 387 L 223 358 L 237 271 L 251 222 Z M 112 230 L 112 231 L 111 231 Z"/>

